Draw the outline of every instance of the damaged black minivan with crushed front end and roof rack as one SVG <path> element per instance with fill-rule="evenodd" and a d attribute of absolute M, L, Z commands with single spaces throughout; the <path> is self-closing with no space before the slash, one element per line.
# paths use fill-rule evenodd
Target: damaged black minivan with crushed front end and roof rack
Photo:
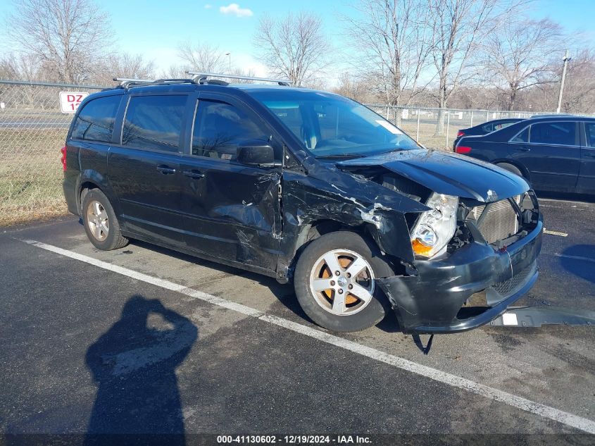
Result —
<path fill-rule="evenodd" d="M 420 147 L 350 99 L 276 82 L 197 74 L 87 97 L 63 168 L 89 240 L 293 281 L 306 314 L 337 331 L 390 309 L 406 333 L 469 330 L 532 287 L 542 219 L 525 180 Z"/>

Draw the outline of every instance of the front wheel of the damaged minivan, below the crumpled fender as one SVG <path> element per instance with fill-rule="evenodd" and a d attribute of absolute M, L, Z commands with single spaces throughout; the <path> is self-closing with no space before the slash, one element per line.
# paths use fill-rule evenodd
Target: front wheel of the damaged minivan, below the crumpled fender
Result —
<path fill-rule="evenodd" d="M 382 321 L 387 299 L 376 278 L 394 275 L 372 243 L 339 231 L 322 235 L 296 264 L 298 302 L 319 326 L 338 332 L 365 330 Z"/>

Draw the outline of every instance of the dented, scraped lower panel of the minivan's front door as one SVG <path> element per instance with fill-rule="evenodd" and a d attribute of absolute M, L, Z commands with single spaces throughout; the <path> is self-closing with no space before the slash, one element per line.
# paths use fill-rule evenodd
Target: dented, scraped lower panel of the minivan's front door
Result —
<path fill-rule="evenodd" d="M 184 157 L 182 209 L 189 248 L 274 271 L 280 254 L 280 169 Z"/>

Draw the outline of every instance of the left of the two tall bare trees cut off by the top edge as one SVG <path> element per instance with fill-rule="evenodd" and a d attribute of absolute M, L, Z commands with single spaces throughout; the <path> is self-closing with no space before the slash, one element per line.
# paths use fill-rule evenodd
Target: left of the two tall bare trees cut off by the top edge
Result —
<path fill-rule="evenodd" d="M 427 8 L 420 0 L 359 0 L 356 18 L 344 17 L 358 42 L 354 61 L 366 80 L 379 84 L 387 104 L 408 105 L 422 92 L 420 75 L 430 53 Z"/>

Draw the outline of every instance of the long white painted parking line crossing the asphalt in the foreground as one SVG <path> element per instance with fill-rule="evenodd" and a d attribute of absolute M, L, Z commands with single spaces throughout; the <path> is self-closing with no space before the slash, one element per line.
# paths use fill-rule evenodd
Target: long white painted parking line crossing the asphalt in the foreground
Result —
<path fill-rule="evenodd" d="M 220 297 L 208 295 L 204 292 L 185 287 L 184 285 L 170 282 L 170 280 L 163 280 L 148 274 L 133 271 L 128 268 L 123 268 L 122 266 L 109 264 L 106 261 L 101 261 L 89 256 L 84 256 L 83 254 L 78 254 L 76 252 L 69 251 L 68 249 L 62 249 L 51 244 L 45 244 L 42 242 L 37 242 L 35 240 L 21 241 L 28 244 L 32 244 L 35 247 L 45 249 L 46 251 L 70 257 L 70 259 L 83 261 L 87 264 L 97 266 L 98 268 L 104 268 L 108 271 L 113 271 L 114 273 L 125 275 L 127 277 L 140 280 L 145 283 L 150 283 L 151 285 L 156 285 L 158 287 L 165 288 L 166 290 L 180 292 L 183 295 L 194 297 L 204 302 L 209 302 L 211 304 L 222 306 L 223 308 L 238 311 L 239 313 L 246 314 L 246 316 L 252 316 L 254 318 L 258 318 L 261 321 L 271 323 L 275 326 L 280 326 L 287 330 L 292 330 L 295 333 L 300 333 L 301 335 L 313 337 L 314 339 L 326 342 L 327 344 L 334 345 L 336 347 L 341 347 L 342 349 L 349 350 L 350 352 L 361 354 L 362 356 L 375 359 L 376 361 L 383 362 L 384 364 L 389 364 L 396 368 L 401 368 L 402 370 L 411 373 L 416 373 L 420 376 L 425 376 L 425 378 L 430 378 L 432 380 L 438 381 L 439 383 L 444 383 L 451 385 L 455 388 L 467 390 L 468 392 L 475 393 L 476 395 L 482 395 L 483 397 L 497 402 L 501 402 L 503 404 L 508 404 L 511 407 L 516 407 L 517 409 L 530 412 L 531 414 L 536 414 L 546 419 L 558 421 L 558 423 L 563 423 L 566 426 L 577 428 L 587 433 L 595 434 L 595 421 L 582 418 L 581 416 L 569 414 L 568 412 L 561 411 L 554 407 L 549 407 L 545 404 L 539 404 L 537 402 L 531 401 L 530 399 L 518 397 L 517 395 L 512 395 L 511 393 L 504 392 L 503 390 L 498 390 L 495 388 L 491 388 L 487 385 L 475 383 L 475 381 L 468 380 L 467 378 L 461 378 L 461 376 L 452 375 L 451 373 L 446 373 L 444 371 L 437 370 L 436 368 L 423 366 L 422 364 L 418 364 L 413 361 L 408 361 L 407 359 L 403 359 L 392 354 L 381 352 L 380 350 L 373 349 L 372 347 L 366 347 L 365 345 L 358 344 L 357 342 L 346 340 L 342 337 L 331 335 L 330 333 L 325 333 L 322 330 L 317 330 L 315 328 L 304 326 L 301 323 L 295 323 L 292 321 L 288 321 L 287 319 L 280 318 L 278 316 L 265 314 L 263 313 L 263 311 L 253 309 L 250 306 L 237 304 L 235 302 L 230 302 Z"/>

